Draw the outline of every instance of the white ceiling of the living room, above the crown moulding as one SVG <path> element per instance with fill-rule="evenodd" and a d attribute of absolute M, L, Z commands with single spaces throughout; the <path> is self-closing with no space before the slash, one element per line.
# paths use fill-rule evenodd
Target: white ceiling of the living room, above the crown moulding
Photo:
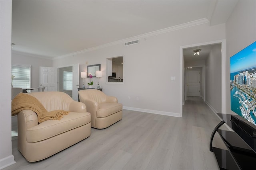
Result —
<path fill-rule="evenodd" d="M 225 23 L 236 0 L 12 0 L 13 51 L 59 57 L 208 19 Z"/>

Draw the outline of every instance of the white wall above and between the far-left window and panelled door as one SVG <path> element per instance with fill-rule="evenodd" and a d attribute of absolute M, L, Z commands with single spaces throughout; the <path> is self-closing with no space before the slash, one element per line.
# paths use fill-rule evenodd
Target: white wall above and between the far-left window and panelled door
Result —
<path fill-rule="evenodd" d="M 40 87 L 40 66 L 52 67 L 52 59 L 43 56 L 12 51 L 12 64 L 31 65 L 31 88 Z"/>

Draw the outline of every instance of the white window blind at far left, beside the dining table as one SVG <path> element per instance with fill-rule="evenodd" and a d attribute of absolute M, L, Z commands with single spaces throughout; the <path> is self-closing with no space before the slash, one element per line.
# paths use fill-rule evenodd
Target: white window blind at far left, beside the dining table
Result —
<path fill-rule="evenodd" d="M 30 88 L 31 66 L 12 65 L 12 86 Z"/>

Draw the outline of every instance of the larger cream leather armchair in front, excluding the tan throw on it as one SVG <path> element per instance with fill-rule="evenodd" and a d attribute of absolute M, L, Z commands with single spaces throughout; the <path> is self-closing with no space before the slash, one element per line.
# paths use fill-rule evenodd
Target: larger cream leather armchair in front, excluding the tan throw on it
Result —
<path fill-rule="evenodd" d="M 32 110 L 18 113 L 18 150 L 29 162 L 47 158 L 82 141 L 91 134 L 91 115 L 86 106 L 64 92 L 27 93 L 38 99 L 47 111 L 70 111 L 60 120 L 38 123 Z"/>

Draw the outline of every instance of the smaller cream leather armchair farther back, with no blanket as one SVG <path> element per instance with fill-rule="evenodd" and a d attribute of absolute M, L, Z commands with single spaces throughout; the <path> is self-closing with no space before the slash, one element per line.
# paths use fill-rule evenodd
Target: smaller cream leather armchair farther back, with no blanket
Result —
<path fill-rule="evenodd" d="M 96 89 L 79 90 L 78 95 L 91 113 L 92 127 L 104 129 L 122 119 L 123 106 L 116 97 L 106 96 Z"/>

